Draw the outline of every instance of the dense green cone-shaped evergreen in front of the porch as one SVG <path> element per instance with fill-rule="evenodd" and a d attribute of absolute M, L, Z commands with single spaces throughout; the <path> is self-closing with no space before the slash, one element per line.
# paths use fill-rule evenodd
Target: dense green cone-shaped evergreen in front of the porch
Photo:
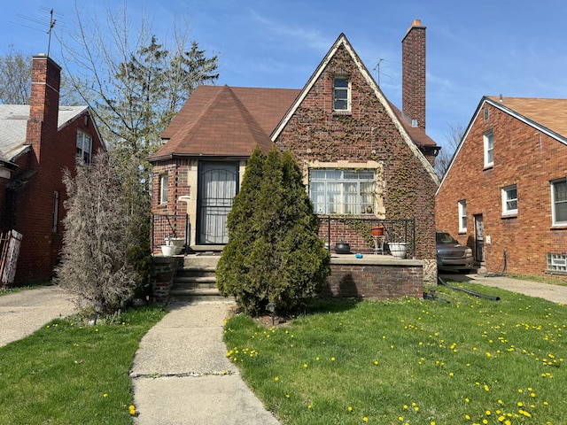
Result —
<path fill-rule="evenodd" d="M 274 149 L 265 157 L 256 148 L 228 217 L 229 243 L 217 266 L 221 294 L 252 315 L 269 302 L 284 313 L 313 298 L 330 274 L 318 228 L 291 153 Z"/>

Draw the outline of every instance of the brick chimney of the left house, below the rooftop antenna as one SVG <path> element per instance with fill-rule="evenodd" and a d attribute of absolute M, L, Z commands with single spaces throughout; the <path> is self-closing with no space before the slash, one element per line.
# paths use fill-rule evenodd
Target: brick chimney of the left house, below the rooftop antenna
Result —
<path fill-rule="evenodd" d="M 55 151 L 60 83 L 61 67 L 44 54 L 34 56 L 27 143 L 32 145 L 38 163 L 48 151 Z"/>

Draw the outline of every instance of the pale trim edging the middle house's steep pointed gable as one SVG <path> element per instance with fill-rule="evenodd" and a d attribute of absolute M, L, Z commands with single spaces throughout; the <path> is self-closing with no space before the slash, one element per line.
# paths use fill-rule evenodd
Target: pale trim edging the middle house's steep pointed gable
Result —
<path fill-rule="evenodd" d="M 384 106 L 384 110 L 390 116 L 390 119 L 392 120 L 394 126 L 396 126 L 396 128 L 398 128 L 398 131 L 400 131 L 400 135 L 402 136 L 404 141 L 408 144 L 409 149 L 414 153 L 416 158 L 419 159 L 419 161 L 423 165 L 423 168 L 430 175 L 431 180 L 433 180 L 433 182 L 435 182 L 436 184 L 439 184 L 439 176 L 435 172 L 435 169 L 433 168 L 433 166 L 431 166 L 431 164 L 427 160 L 427 158 L 424 157 L 423 153 L 417 148 L 417 146 L 416 146 L 417 141 L 412 140 L 412 137 L 409 134 L 408 129 L 402 123 L 403 119 L 400 119 L 400 117 L 393 111 L 392 105 L 390 104 L 390 102 L 388 102 L 388 100 L 384 96 L 384 93 L 382 93 L 382 90 L 378 87 L 376 81 L 374 81 L 374 78 L 369 73 L 369 70 L 367 69 L 366 66 L 364 66 L 364 64 L 361 61 L 361 58 L 358 57 L 357 53 L 353 49 L 353 46 L 346 39 L 346 35 L 344 35 L 344 34 L 341 34 L 341 35 L 338 36 L 337 41 L 332 45 L 330 50 L 327 52 L 327 55 L 325 55 L 325 57 L 322 59 L 321 64 L 319 64 L 319 66 L 317 66 L 317 69 L 315 69 L 315 73 L 313 73 L 313 75 L 311 75 L 311 77 L 307 81 L 307 84 L 299 93 L 298 98 L 291 105 L 291 108 L 289 109 L 289 111 L 286 112 L 286 114 L 283 116 L 283 119 L 278 124 L 276 130 L 274 130 L 274 132 L 272 133 L 272 140 L 276 140 L 277 136 L 283 131 L 283 128 L 285 128 L 285 126 L 287 125 L 289 120 L 291 120 L 291 116 L 297 111 L 297 109 L 299 108 L 299 105 L 303 102 L 305 97 L 307 97 L 309 90 L 311 90 L 313 88 L 313 86 L 315 85 L 315 82 L 319 79 L 321 74 L 324 72 L 325 68 L 329 65 L 330 60 L 335 56 L 335 54 L 337 53 L 337 50 L 341 46 L 344 47 L 346 49 L 346 51 L 349 53 L 349 55 L 351 56 L 351 58 L 353 58 L 354 64 L 358 67 L 362 76 L 364 77 L 364 79 L 369 84 L 369 87 L 374 91 L 378 101 Z M 424 136 L 422 138 L 422 142 L 427 142 L 429 144 L 429 141 L 431 141 L 431 139 L 429 139 L 429 137 L 426 136 L 423 131 L 421 133 L 423 133 L 423 136 Z M 429 141 L 427 139 L 429 139 Z M 432 143 L 432 144 L 435 144 L 435 143 Z"/>

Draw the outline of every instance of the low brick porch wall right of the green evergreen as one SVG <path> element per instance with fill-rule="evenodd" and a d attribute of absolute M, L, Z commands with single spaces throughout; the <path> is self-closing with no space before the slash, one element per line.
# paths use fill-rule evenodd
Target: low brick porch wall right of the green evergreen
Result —
<path fill-rule="evenodd" d="M 423 298 L 423 264 L 403 260 L 399 263 L 361 264 L 358 260 L 339 264 L 331 260 L 331 274 L 322 297 L 391 299 Z"/>

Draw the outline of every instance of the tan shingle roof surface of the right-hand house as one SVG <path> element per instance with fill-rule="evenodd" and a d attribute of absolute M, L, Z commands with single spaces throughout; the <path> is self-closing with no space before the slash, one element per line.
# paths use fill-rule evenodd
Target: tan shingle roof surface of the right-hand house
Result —
<path fill-rule="evenodd" d="M 523 115 L 558 135 L 567 137 L 567 99 L 487 96 L 496 104 Z"/>

